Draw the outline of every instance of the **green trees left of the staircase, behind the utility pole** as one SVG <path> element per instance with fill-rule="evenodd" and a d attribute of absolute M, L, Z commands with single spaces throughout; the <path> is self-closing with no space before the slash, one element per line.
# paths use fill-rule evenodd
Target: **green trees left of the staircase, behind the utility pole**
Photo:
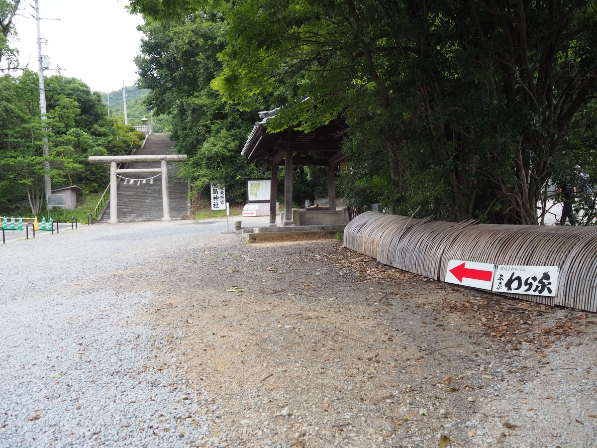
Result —
<path fill-rule="evenodd" d="M 79 185 L 83 193 L 103 191 L 109 182 L 104 165 L 90 165 L 91 155 L 126 154 L 144 135 L 107 118 L 99 92 L 79 79 L 45 78 L 47 119 L 39 115 L 38 75 L 0 78 L 0 214 L 27 204 L 32 214 L 44 210 L 44 162 L 50 162 L 52 188 Z M 44 157 L 42 139 L 49 155 Z"/>

